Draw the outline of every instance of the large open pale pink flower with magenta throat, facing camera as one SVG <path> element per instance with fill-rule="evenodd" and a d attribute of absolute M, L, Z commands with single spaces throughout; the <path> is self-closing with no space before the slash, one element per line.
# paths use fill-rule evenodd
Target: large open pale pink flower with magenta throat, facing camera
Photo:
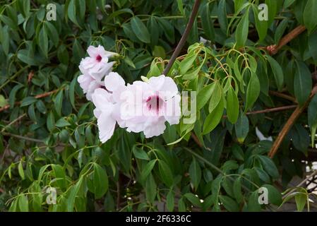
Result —
<path fill-rule="evenodd" d="M 164 133 L 165 121 L 179 124 L 181 97 L 172 78 L 162 75 L 147 83 L 136 81 L 121 93 L 119 118 L 127 131 L 143 131 L 145 138 L 150 138 Z"/>

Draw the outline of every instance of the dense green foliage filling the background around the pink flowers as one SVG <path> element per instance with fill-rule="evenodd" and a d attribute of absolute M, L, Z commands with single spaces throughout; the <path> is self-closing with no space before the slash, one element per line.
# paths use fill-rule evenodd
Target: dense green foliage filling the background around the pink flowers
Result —
<path fill-rule="evenodd" d="M 49 3 L 56 20 L 47 20 Z M 268 20 L 258 18 L 261 3 Z M 277 210 L 290 180 L 303 177 L 315 140 L 317 98 L 307 102 L 317 64 L 315 0 L 202 1 L 168 74 L 180 91 L 197 92 L 196 110 L 194 95 L 182 100 L 194 117 L 155 138 L 118 128 L 99 141 L 94 106 L 77 83 L 85 49 L 119 53 L 114 71 L 127 83 L 159 76 L 192 7 L 191 0 L 0 0 L 0 210 Z M 306 30 L 268 51 L 299 25 Z M 293 105 L 308 104 L 268 157 L 273 141 L 256 131 L 275 140 Z M 261 206 L 263 186 L 269 204 Z M 47 203 L 51 187 L 55 205 Z M 296 196 L 302 210 L 308 195 L 299 189 L 286 201 Z"/>

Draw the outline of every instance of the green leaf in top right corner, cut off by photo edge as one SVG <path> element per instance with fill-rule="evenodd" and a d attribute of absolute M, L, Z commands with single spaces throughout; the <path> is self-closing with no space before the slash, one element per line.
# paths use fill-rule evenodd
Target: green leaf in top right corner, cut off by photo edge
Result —
<path fill-rule="evenodd" d="M 316 13 L 317 11 L 317 1 L 316 0 L 307 0 L 305 9 L 304 9 L 304 25 L 309 31 L 309 33 L 313 32 L 313 30 L 317 26 Z"/>

